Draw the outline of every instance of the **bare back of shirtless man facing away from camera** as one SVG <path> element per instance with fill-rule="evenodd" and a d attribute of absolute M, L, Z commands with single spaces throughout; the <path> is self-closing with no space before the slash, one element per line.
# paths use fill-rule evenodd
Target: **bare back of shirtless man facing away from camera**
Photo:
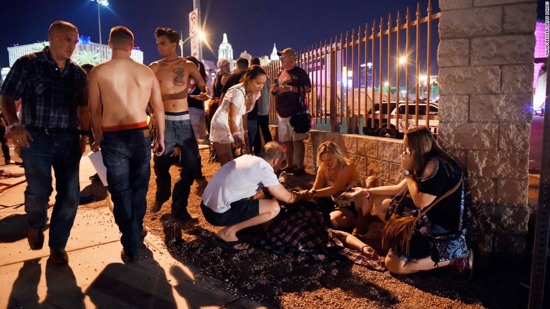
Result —
<path fill-rule="evenodd" d="M 130 58 L 111 59 L 95 66 L 92 78 L 101 93 L 103 127 L 147 120 L 145 109 L 157 83 L 147 66 Z"/>

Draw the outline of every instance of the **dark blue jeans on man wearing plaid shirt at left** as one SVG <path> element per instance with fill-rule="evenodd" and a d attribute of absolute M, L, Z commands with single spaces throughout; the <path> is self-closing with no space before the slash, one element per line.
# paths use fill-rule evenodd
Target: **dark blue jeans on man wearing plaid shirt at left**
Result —
<path fill-rule="evenodd" d="M 56 175 L 56 203 L 50 220 L 52 249 L 65 249 L 80 197 L 79 166 L 82 153 L 76 133 L 42 133 L 27 127 L 33 141 L 21 147 L 25 168 L 25 212 L 31 228 L 42 228 L 48 219 L 52 194 L 52 167 Z"/>

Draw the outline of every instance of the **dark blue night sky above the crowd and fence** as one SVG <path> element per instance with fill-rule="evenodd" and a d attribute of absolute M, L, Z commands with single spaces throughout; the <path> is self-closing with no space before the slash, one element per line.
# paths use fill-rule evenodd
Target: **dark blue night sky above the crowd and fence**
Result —
<path fill-rule="evenodd" d="M 90 0 L 17 0 L 2 1 L 2 30 L 0 30 L 0 66 L 8 66 L 8 52 L 5 48 L 13 44 L 30 44 L 47 40 L 47 29 L 54 20 L 65 20 L 79 29 L 79 34 L 99 42 L 97 23 L 97 3 Z M 420 0 L 421 16 L 426 16 L 428 0 Z M 438 0 L 432 1 L 433 13 L 439 12 Z M 539 1 L 538 17 L 543 18 L 543 1 Z M 369 27 L 372 21 L 379 23 L 384 18 L 387 25 L 388 14 L 395 16 L 411 7 L 414 18 L 416 1 L 404 0 L 202 0 L 201 14 L 206 21 L 205 32 L 214 53 L 203 47 L 205 59 L 217 60 L 217 50 L 227 33 L 233 47 L 234 58 L 244 50 L 253 56 L 271 54 L 273 43 L 278 50 L 293 47 L 303 49 L 325 39 L 340 35 L 361 26 Z M 193 10 L 192 0 L 152 1 L 152 0 L 110 0 L 109 7 L 101 7 L 101 30 L 103 43 L 108 40 L 111 27 L 123 25 L 135 36 L 135 46 L 144 52 L 144 63 L 158 60 L 155 37 L 156 27 L 169 27 L 183 30 L 189 36 L 188 15 Z M 425 31 L 425 30 L 424 30 Z M 432 32 L 431 57 L 437 57 L 437 25 Z M 425 36 L 425 32 L 423 33 Z M 185 54 L 190 54 L 189 41 L 185 43 Z M 179 50 L 178 50 L 179 54 Z M 432 61 L 432 71 L 437 72 L 437 61 Z M 434 73 L 432 73 L 434 74 Z"/>

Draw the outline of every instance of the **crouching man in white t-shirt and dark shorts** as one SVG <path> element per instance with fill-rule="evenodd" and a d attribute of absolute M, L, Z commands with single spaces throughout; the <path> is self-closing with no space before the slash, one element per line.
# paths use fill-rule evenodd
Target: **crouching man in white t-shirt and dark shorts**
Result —
<path fill-rule="evenodd" d="M 288 192 L 279 183 L 275 171 L 281 168 L 283 157 L 281 144 L 267 143 L 260 156 L 240 156 L 219 168 L 208 182 L 201 210 L 208 223 L 224 227 L 215 239 L 218 246 L 232 251 L 247 249 L 248 244 L 239 241 L 237 232 L 277 216 L 280 210 L 277 200 L 250 199 L 263 187 L 287 204 L 311 198 L 307 192 Z"/>

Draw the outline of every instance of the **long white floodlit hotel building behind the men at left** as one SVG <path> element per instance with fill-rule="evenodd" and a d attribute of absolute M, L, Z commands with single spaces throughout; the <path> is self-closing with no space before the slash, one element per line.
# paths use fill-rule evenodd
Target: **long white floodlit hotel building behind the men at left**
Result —
<path fill-rule="evenodd" d="M 9 54 L 9 66 L 12 67 L 15 63 L 15 60 L 23 57 L 24 55 L 39 52 L 45 46 L 49 46 L 50 42 L 36 42 L 32 44 L 19 45 L 15 44 L 12 47 L 8 47 Z M 81 63 L 85 60 L 85 63 L 99 64 L 101 62 L 101 54 L 103 54 L 103 61 L 111 59 L 112 51 L 106 44 L 94 43 L 90 40 L 89 37 L 80 36 L 78 38 L 78 43 L 76 43 L 76 48 L 74 49 L 71 59 L 76 63 L 82 65 Z M 130 54 L 130 58 L 143 63 L 143 52 L 139 47 L 134 47 Z"/>

